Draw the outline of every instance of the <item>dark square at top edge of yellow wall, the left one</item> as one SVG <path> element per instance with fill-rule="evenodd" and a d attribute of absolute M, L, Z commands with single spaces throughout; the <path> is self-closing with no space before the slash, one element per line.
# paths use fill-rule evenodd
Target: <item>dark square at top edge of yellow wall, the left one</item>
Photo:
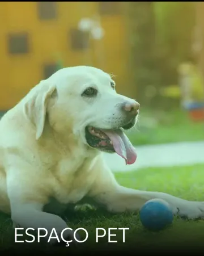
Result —
<path fill-rule="evenodd" d="M 41 20 L 56 19 L 57 2 L 37 2 L 37 12 Z"/>

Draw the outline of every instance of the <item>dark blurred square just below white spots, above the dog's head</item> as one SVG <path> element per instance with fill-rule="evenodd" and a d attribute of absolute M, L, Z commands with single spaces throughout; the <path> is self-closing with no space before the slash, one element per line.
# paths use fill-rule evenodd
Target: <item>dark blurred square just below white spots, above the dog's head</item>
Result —
<path fill-rule="evenodd" d="M 73 50 L 83 50 L 89 47 L 89 33 L 78 29 L 70 30 L 71 48 Z"/>

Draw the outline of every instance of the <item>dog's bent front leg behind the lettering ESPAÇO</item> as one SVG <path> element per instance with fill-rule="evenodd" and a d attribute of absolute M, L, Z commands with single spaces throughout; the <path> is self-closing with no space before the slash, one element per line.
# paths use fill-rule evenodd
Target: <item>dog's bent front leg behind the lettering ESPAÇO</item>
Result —
<path fill-rule="evenodd" d="M 25 177 L 21 179 L 20 175 L 18 179 L 14 177 L 15 175 L 11 173 L 7 175 L 7 191 L 14 228 L 32 228 L 39 232 L 42 229 L 40 234 L 42 236 L 44 232 L 46 234 L 42 240 L 49 244 L 65 245 L 66 241 L 71 240 L 75 243 L 74 230 L 70 229 L 61 217 L 42 211 L 47 197 L 41 185 L 34 181 L 27 183 Z M 58 238 L 50 238 L 56 237 L 56 234 Z M 79 240 L 77 235 L 76 239 Z"/>

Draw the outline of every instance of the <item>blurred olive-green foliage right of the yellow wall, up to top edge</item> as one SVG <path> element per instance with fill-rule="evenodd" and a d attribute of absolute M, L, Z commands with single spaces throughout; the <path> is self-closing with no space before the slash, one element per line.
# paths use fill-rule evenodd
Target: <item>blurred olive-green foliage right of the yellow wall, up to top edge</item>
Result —
<path fill-rule="evenodd" d="M 159 94 L 148 98 L 146 92 L 150 85 L 158 92 L 161 86 L 177 84 L 179 64 L 192 57 L 194 5 L 194 2 L 129 2 L 130 62 L 137 98 L 142 104 L 156 107 L 160 103 L 169 107 L 167 99 Z"/>

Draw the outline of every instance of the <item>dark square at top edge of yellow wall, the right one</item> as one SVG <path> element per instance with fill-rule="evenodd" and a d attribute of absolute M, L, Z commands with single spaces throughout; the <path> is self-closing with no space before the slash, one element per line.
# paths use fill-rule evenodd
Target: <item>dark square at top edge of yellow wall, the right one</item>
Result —
<path fill-rule="evenodd" d="M 100 15 L 121 14 L 121 2 L 99 2 Z"/>

